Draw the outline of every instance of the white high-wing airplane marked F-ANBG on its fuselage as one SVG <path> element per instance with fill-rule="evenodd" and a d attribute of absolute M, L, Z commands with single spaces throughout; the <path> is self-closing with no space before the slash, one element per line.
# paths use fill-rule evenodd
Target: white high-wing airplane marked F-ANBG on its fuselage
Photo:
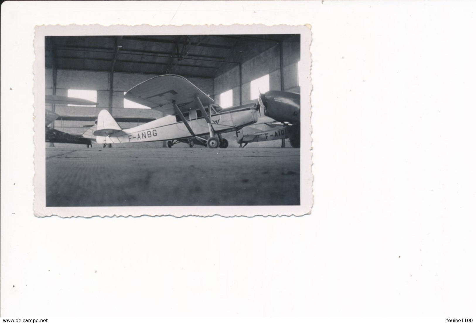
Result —
<path fill-rule="evenodd" d="M 222 133 L 238 131 L 258 120 L 257 103 L 223 109 L 190 81 L 174 74 L 144 81 L 130 89 L 125 98 L 165 116 L 122 129 L 109 111 L 102 110 L 93 133 L 98 143 L 168 141 L 169 147 L 176 142 L 187 142 L 192 147 L 198 142 L 208 148 L 227 148 Z"/>

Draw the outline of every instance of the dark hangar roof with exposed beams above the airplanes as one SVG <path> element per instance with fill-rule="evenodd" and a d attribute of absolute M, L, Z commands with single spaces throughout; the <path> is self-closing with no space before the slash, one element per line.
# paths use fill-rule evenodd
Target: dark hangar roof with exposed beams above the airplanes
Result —
<path fill-rule="evenodd" d="M 299 35 L 48 36 L 46 68 L 212 79 Z"/>

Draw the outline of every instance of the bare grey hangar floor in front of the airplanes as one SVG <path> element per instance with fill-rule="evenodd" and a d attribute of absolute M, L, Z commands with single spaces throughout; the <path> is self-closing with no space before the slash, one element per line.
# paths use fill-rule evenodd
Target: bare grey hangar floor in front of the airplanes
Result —
<path fill-rule="evenodd" d="M 46 148 L 46 205 L 297 205 L 299 149 Z"/>

